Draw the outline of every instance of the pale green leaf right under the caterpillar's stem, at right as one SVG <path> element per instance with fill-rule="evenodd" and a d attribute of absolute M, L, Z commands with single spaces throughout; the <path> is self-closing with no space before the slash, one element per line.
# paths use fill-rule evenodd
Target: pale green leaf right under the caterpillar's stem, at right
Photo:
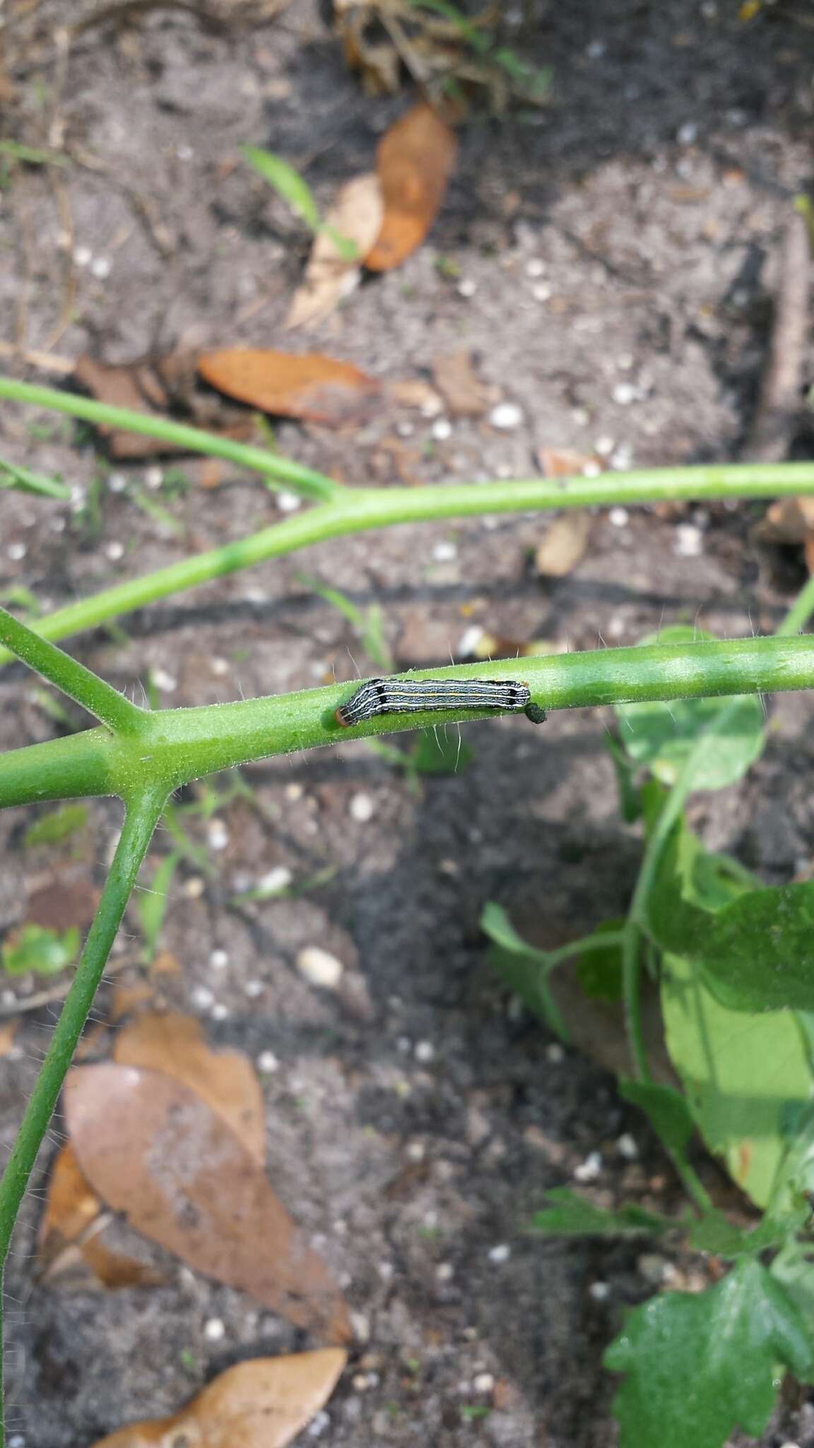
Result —
<path fill-rule="evenodd" d="M 676 626 L 640 639 L 649 643 L 698 643 L 713 634 Z M 755 695 L 727 699 L 675 699 L 671 704 L 617 704 L 621 744 L 632 760 L 674 785 L 700 737 L 724 711 L 726 730 L 710 734 L 697 762 L 694 789 L 724 789 L 742 779 L 763 750 L 763 710 Z"/>

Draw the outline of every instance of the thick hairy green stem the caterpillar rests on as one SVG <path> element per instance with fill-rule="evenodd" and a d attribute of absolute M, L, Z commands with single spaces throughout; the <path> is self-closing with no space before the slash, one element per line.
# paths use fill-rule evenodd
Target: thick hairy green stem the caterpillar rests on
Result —
<path fill-rule="evenodd" d="M 814 634 L 794 639 L 737 639 L 697 644 L 594 649 L 588 653 L 463 663 L 417 669 L 411 678 L 517 679 L 543 708 L 585 708 L 647 699 L 702 698 L 814 688 Z M 329 685 L 272 698 L 203 708 L 143 712 L 129 737 L 87 730 L 68 738 L 29 744 L 0 754 L 0 808 L 35 799 L 127 795 L 145 773 L 167 791 L 249 760 L 374 734 L 450 724 L 488 714 L 385 714 L 352 730 L 335 710 L 353 685 Z M 529 727 L 523 720 L 519 727 Z"/>

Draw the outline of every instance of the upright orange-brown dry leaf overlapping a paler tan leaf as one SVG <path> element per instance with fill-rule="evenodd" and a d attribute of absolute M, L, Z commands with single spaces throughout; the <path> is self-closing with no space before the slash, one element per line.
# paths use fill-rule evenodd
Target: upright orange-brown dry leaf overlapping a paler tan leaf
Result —
<path fill-rule="evenodd" d="M 455 132 L 427 104 L 414 106 L 385 132 L 377 153 L 384 220 L 365 256 L 369 271 L 400 266 L 421 245 L 443 201 L 456 155 Z"/>

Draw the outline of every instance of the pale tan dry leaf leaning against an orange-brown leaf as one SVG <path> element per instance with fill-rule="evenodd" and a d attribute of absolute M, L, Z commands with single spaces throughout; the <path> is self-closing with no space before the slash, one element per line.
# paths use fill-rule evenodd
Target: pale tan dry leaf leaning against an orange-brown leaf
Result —
<path fill-rule="evenodd" d="M 375 171 L 353 177 L 342 187 L 324 219 L 324 229 L 314 239 L 303 285 L 294 292 L 285 317 L 287 327 L 316 326 L 353 291 L 362 275 L 359 259 L 374 245 L 382 217 L 384 201 Z M 329 227 L 353 242 L 355 258 L 342 255 Z"/>

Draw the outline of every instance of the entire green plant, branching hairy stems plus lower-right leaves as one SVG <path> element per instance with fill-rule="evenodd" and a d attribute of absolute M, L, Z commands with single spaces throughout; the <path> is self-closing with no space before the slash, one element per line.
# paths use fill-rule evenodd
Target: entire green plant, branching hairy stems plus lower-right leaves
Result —
<path fill-rule="evenodd" d="M 3 378 L 0 397 L 227 458 L 277 487 L 295 488 L 311 504 L 246 539 L 126 579 L 38 618 L 33 626 L 0 608 L 0 663 L 10 657 L 22 660 L 98 721 L 81 733 L 0 754 L 0 808 L 100 795 L 114 795 L 123 804 L 122 834 L 100 905 L 0 1180 L 1 1264 L 158 821 L 167 821 L 172 850 L 158 867 L 162 889 L 156 891 L 156 902 L 142 902 L 148 953 L 158 941 L 172 872 L 181 859 L 197 856 L 198 847 L 182 824 L 185 807 L 172 802 L 175 792 L 201 776 L 236 770 L 249 760 L 339 738 L 378 740 L 394 730 L 452 724 L 463 717 L 455 710 L 437 715 L 384 714 L 342 730 L 336 710 L 348 702 L 352 688 L 340 683 L 201 708 L 142 710 L 51 640 L 110 624 L 158 598 L 329 537 L 482 513 L 808 494 L 814 492 L 814 465 L 652 469 L 553 482 L 530 478 L 494 482 L 488 489 L 463 484 L 424 489 L 353 488 L 275 452 L 91 398 Z M 339 605 L 339 597 L 332 602 Z M 542 1212 L 537 1218 L 537 1229 L 572 1235 L 588 1224 L 601 1234 L 679 1231 L 697 1250 L 716 1251 L 734 1263 L 710 1293 L 691 1302 L 658 1299 L 639 1309 L 611 1348 L 610 1365 L 627 1374 L 618 1396 L 626 1448 L 645 1442 L 650 1448 L 656 1441 L 684 1448 L 687 1422 L 681 1415 L 687 1413 L 687 1396 L 675 1383 L 692 1380 L 698 1386 L 702 1422 L 694 1445 L 714 1448 L 733 1423 L 759 1431 L 773 1402 L 775 1364 L 802 1377 L 811 1373 L 814 1284 L 804 1234 L 810 1216 L 807 1192 L 814 1184 L 808 1176 L 814 1158 L 810 1116 L 814 883 L 779 891 L 759 886 L 734 862 L 705 851 L 687 825 L 684 805 L 700 782 L 704 788 L 731 783 L 756 757 L 763 738 L 759 694 L 814 688 L 814 637 L 798 636 L 813 611 L 814 582 L 810 582 L 775 637 L 721 641 L 662 636 L 658 643 L 634 649 L 523 660 L 523 679 L 539 708 L 610 704 L 623 711 L 614 762 L 626 817 L 642 821 L 643 859 L 627 918 L 595 930 L 574 946 L 555 953 L 530 951 L 497 906 L 491 908 L 487 925 L 500 938 L 513 985 L 527 993 L 553 1028 L 566 1031 L 566 1022 L 558 1018 L 549 976 L 566 959 L 578 960 L 589 989 L 621 993 L 633 1058 L 624 1095 L 646 1111 L 691 1199 L 691 1215 L 675 1219 L 632 1208 L 597 1215 L 591 1203 L 579 1205 L 579 1199 L 561 1193 L 549 1203 L 549 1215 Z M 384 633 L 381 626 L 369 631 L 369 618 L 362 615 L 362 626 L 369 641 L 381 649 Z M 517 670 L 517 660 L 507 659 L 421 669 L 413 678 L 516 679 Z M 707 702 L 724 695 L 734 696 L 733 702 Z M 675 715 L 679 723 L 668 727 L 663 712 L 652 705 L 668 702 L 675 710 L 676 701 L 695 702 L 681 704 Z M 630 712 L 633 705 L 639 712 Z M 240 788 L 239 776 L 233 779 Z M 214 799 L 210 786 L 203 786 L 196 807 L 206 817 Z M 201 854 L 206 857 L 206 851 Z M 75 941 L 43 938 L 30 930 L 23 927 L 17 943 L 6 941 L 6 950 L 23 950 L 22 957 L 12 956 L 12 969 L 36 969 L 32 964 L 36 948 L 41 959 L 51 960 L 51 969 L 62 969 Z M 17 964 L 20 959 L 26 961 L 23 966 Z M 687 1099 L 674 1086 L 655 1082 L 649 1070 L 640 996 L 650 970 L 658 973 L 675 1067 L 691 1087 Z M 737 1037 L 746 1040 L 749 1032 L 755 1034 L 744 1048 Z M 736 1180 L 763 1211 L 763 1221 L 752 1232 L 730 1224 L 710 1200 L 688 1156 L 695 1129 L 726 1156 Z M 747 1158 L 737 1156 L 744 1140 L 752 1147 Z M 765 1264 L 760 1258 L 768 1253 L 773 1257 Z M 704 1352 L 713 1337 L 716 1352 Z M 668 1384 L 662 1383 L 665 1344 L 675 1345 Z M 747 1381 L 737 1373 L 736 1355 L 749 1368 Z M 659 1402 L 663 1416 L 655 1431 Z M 3 1441 L 0 1402 L 0 1448 Z"/>

